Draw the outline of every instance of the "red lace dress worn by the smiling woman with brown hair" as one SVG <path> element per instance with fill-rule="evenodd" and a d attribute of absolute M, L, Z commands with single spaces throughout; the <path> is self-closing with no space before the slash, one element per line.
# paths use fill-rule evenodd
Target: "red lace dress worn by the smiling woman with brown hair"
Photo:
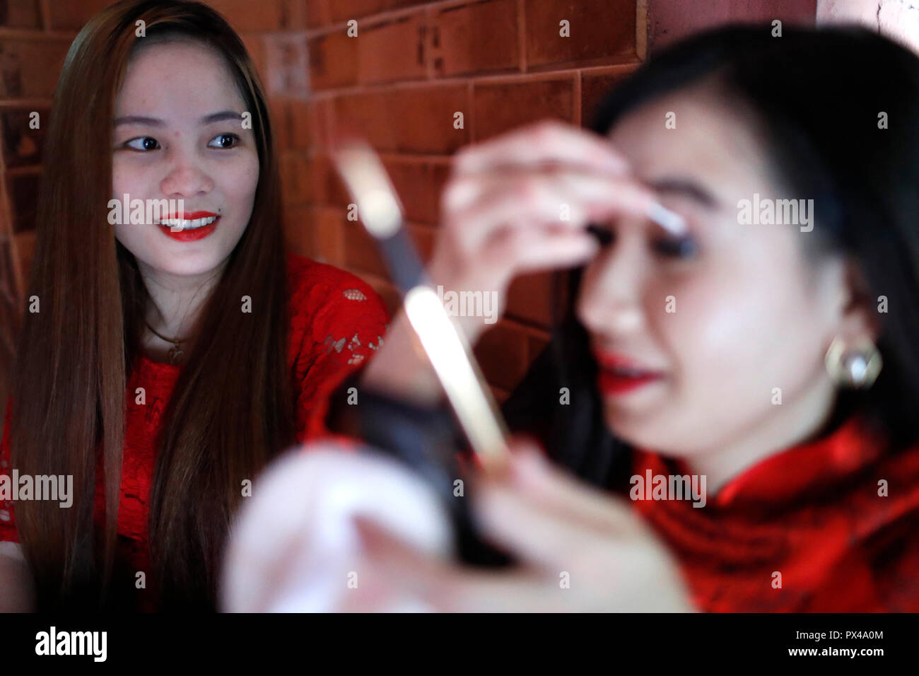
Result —
<path fill-rule="evenodd" d="M 290 335 L 288 363 L 296 383 L 297 439 L 326 434 L 328 397 L 382 344 L 389 316 L 367 283 L 345 270 L 289 255 Z M 163 412 L 181 366 L 140 357 L 128 380 L 121 498 L 118 512 L 119 558 L 130 570 L 149 570 L 147 498 Z M 146 404 L 134 405 L 143 387 Z M 12 400 L 7 403 L 0 474 L 11 475 L 9 431 Z M 96 467 L 96 522 L 104 510 L 103 471 Z M 0 500 L 0 541 L 19 542 L 14 504 Z M 140 595 L 143 596 L 143 595 Z M 149 603 L 139 598 L 142 609 Z"/>

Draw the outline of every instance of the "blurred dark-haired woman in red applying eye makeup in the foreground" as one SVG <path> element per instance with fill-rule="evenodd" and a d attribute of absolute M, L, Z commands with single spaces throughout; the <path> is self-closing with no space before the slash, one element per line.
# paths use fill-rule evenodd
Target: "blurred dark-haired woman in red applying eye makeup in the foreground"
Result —
<path fill-rule="evenodd" d="M 521 451 L 473 503 L 521 566 L 376 533 L 368 569 L 448 610 L 919 610 L 919 60 L 857 29 L 720 29 L 592 131 L 460 151 L 431 264 L 502 303 L 576 267 L 505 403 L 567 471 Z M 411 340 L 400 315 L 364 383 L 431 407 Z"/>

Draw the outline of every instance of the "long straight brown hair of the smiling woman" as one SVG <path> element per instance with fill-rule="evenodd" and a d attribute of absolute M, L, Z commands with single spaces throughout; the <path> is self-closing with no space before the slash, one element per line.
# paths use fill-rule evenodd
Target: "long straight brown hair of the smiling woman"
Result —
<path fill-rule="evenodd" d="M 140 26 L 145 37 L 136 34 Z M 252 218 L 202 310 L 200 338 L 164 416 L 147 574 L 161 607 L 214 608 L 242 482 L 294 441 L 278 166 L 255 67 L 210 7 L 123 0 L 80 31 L 54 93 L 28 292 L 40 312 L 23 317 L 17 343 L 14 465 L 22 474 L 74 476 L 71 509 L 17 502 L 40 609 L 110 607 L 134 590 L 133 574 L 117 582 L 121 593 L 112 588 L 127 377 L 149 295 L 108 224 L 112 125 L 134 47 L 175 38 L 202 41 L 224 57 L 252 113 L 260 169 Z M 251 313 L 241 312 L 243 296 L 252 299 Z M 96 453 L 104 458 L 104 533 L 94 527 Z"/>

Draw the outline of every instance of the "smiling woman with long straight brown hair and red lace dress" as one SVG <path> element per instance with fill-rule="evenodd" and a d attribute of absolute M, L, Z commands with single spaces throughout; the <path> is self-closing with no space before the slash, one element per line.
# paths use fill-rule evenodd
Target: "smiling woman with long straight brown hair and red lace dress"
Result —
<path fill-rule="evenodd" d="M 40 609 L 213 608 L 245 487 L 327 431 L 388 317 L 285 252 L 265 95 L 208 6 L 100 12 L 54 111 L 0 471 L 73 476 L 74 504 L 0 504 L 28 561 L 0 569 L 0 602 L 34 583 Z"/>

